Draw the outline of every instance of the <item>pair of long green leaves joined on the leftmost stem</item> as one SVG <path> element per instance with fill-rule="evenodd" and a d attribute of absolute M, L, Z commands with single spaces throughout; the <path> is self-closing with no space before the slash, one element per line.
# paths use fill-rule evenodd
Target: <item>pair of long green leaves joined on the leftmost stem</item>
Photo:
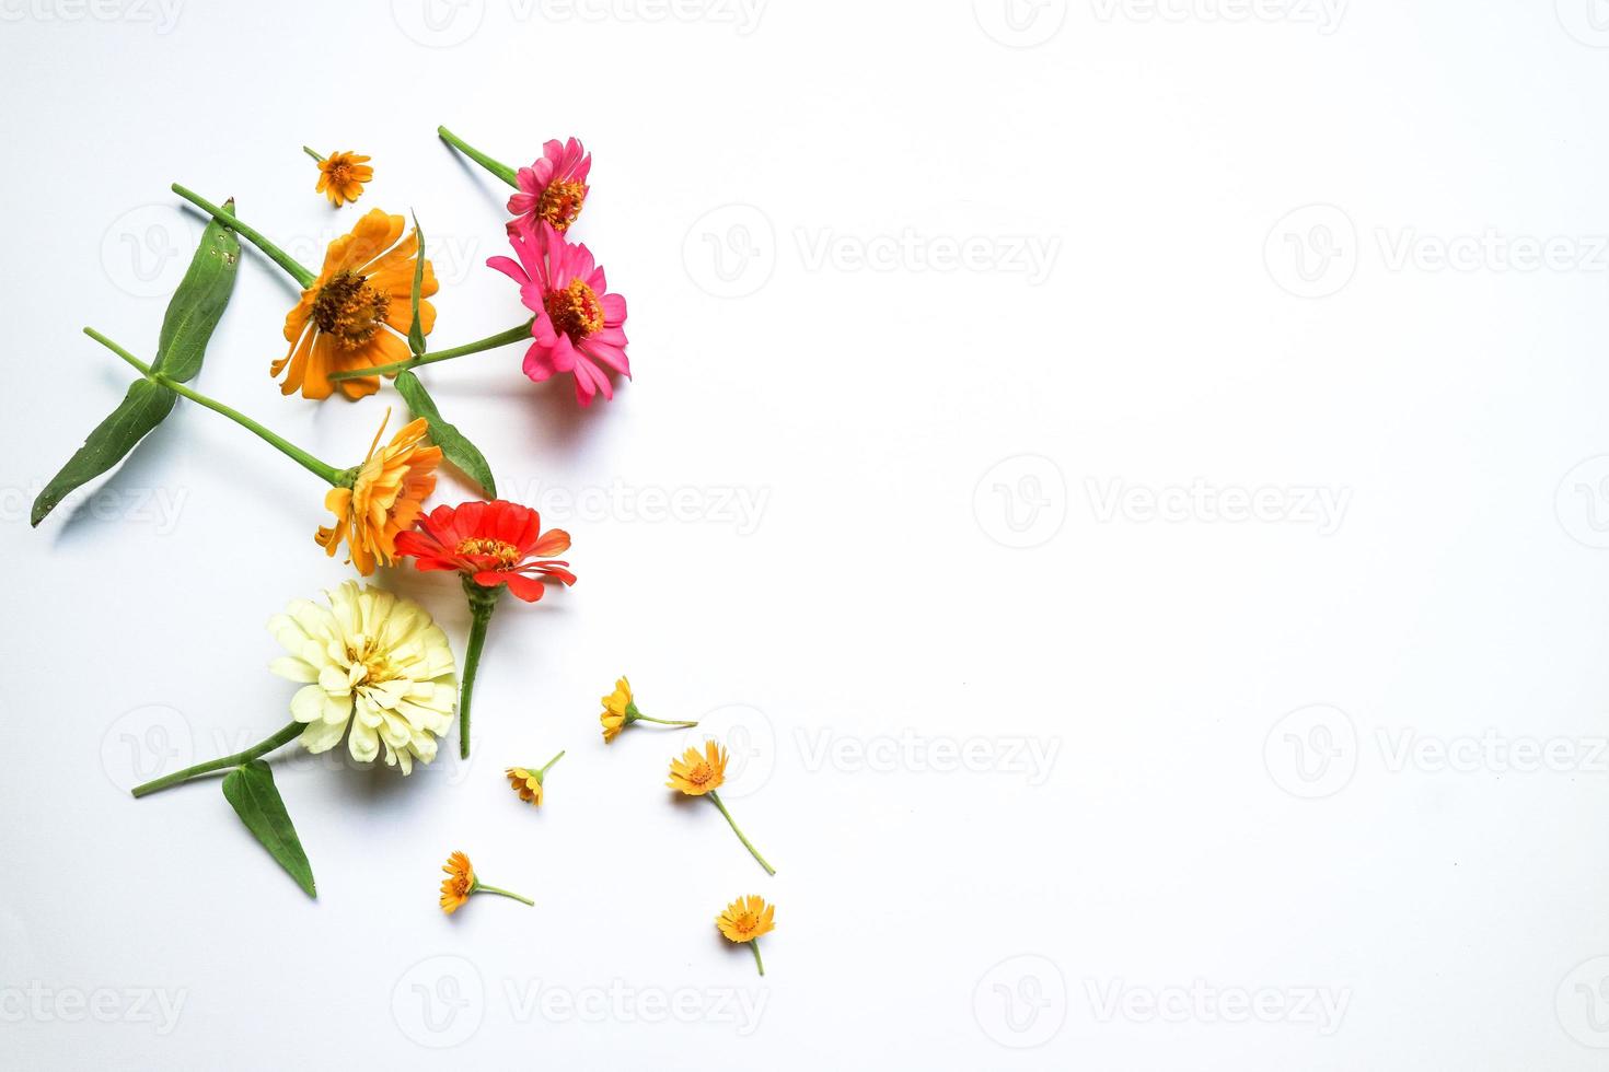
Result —
<path fill-rule="evenodd" d="M 233 212 L 235 203 L 230 201 L 225 207 Z M 217 220 L 208 223 L 201 233 L 201 246 L 167 304 L 151 371 L 179 383 L 201 371 L 206 344 L 235 289 L 238 264 L 240 239 L 235 233 Z M 177 399 L 167 387 L 146 379 L 132 384 L 122 405 L 95 426 L 77 453 L 34 500 L 29 524 L 39 526 L 63 498 L 122 461 L 146 432 L 172 413 Z"/>

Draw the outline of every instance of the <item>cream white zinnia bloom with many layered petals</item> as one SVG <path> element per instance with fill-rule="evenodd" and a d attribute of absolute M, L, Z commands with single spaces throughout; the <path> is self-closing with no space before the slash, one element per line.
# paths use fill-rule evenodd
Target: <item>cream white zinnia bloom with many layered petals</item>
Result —
<path fill-rule="evenodd" d="M 290 653 L 269 669 L 306 683 L 291 698 L 291 717 L 307 723 L 299 741 L 328 752 L 351 723 L 352 759 L 367 763 L 385 743 L 386 763 L 412 773 L 415 759 L 436 759 L 436 738 L 452 726 L 459 691 L 447 635 L 412 599 L 356 580 L 323 595 L 328 609 L 296 599 L 269 619 Z"/>

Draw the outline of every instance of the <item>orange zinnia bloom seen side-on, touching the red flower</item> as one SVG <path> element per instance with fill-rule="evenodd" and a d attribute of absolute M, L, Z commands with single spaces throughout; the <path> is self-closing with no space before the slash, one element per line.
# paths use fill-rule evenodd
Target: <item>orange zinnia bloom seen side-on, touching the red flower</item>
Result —
<path fill-rule="evenodd" d="M 389 413 L 386 419 L 391 419 Z M 430 424 L 418 418 L 375 453 L 380 437 L 386 434 L 381 423 L 351 487 L 331 487 L 323 497 L 335 524 L 320 527 L 314 538 L 331 558 L 335 548 L 346 542 L 348 558 L 364 577 L 375 572 L 377 561 L 385 566 L 393 563 L 397 534 L 414 527 L 425 498 L 436 490 L 441 447 L 425 445 L 428 432 Z"/>

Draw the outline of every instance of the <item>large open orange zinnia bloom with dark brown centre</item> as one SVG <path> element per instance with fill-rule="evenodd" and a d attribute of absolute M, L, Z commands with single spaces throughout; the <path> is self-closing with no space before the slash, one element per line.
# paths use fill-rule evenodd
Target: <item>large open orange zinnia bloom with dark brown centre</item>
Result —
<path fill-rule="evenodd" d="M 402 238 L 401 215 L 372 209 L 352 233 L 330 243 L 323 272 L 302 291 L 285 317 L 291 349 L 270 373 L 285 373 L 282 394 L 301 389 L 304 399 L 328 399 L 336 386 L 348 399 L 380 391 L 378 376 L 330 381 L 330 373 L 375 368 L 410 357 L 407 331 L 414 323 L 414 262 L 418 235 Z M 418 323 L 425 334 L 436 326 L 436 307 L 423 301 L 441 289 L 425 260 L 418 288 Z"/>

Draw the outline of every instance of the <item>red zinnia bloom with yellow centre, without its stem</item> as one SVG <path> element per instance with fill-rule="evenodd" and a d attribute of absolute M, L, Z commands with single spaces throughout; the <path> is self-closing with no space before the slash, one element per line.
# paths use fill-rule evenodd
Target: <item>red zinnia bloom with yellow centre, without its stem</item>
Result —
<path fill-rule="evenodd" d="M 418 526 L 396 538 L 397 554 L 412 556 L 415 569 L 455 571 L 484 588 L 508 585 L 526 603 L 541 599 L 549 580 L 576 583 L 570 563 L 549 558 L 570 548 L 570 534 L 542 532 L 542 518 L 529 506 L 500 498 L 438 506 Z"/>

